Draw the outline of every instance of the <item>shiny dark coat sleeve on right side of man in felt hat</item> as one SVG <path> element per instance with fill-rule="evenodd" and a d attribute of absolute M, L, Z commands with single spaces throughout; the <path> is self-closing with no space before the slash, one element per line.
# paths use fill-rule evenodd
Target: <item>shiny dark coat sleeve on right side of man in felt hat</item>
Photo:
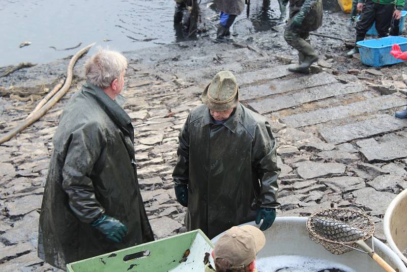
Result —
<path fill-rule="evenodd" d="M 260 181 L 259 201 L 261 207 L 276 208 L 278 184 L 277 177 L 280 168 L 277 166 L 276 141 L 273 137 L 269 122 L 259 122 L 254 132 L 253 167 L 257 171 Z"/>

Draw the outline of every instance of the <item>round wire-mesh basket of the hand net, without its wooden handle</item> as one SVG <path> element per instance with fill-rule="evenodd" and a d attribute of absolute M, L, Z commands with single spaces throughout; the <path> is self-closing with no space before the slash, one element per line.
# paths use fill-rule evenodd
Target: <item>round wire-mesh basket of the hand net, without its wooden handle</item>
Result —
<path fill-rule="evenodd" d="M 307 220 L 309 238 L 332 254 L 343 254 L 358 247 L 374 233 L 374 222 L 364 213 L 352 209 L 325 209 Z"/>

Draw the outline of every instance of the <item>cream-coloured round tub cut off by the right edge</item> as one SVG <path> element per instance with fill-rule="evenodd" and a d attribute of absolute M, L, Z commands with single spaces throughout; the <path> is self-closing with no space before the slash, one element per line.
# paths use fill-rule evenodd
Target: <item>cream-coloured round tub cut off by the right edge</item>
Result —
<path fill-rule="evenodd" d="M 402 252 L 407 249 L 407 189 L 387 207 L 383 229 L 390 248 L 407 264 Z"/>

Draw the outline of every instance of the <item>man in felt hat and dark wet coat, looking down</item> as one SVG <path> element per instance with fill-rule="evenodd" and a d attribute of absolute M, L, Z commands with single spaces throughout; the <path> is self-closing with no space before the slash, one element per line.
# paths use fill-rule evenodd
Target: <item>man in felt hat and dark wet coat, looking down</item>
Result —
<path fill-rule="evenodd" d="M 179 135 L 172 173 L 178 202 L 188 207 L 185 226 L 209 238 L 246 222 L 276 217 L 276 142 L 270 123 L 239 103 L 235 76 L 221 71 L 201 95 Z"/>

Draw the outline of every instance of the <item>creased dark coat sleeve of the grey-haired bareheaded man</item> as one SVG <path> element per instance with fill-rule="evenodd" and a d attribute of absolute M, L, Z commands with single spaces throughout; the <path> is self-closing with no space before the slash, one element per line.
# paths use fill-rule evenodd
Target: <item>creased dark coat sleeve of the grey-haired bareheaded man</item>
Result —
<path fill-rule="evenodd" d="M 91 179 L 93 167 L 105 146 L 98 124 L 85 124 L 70 135 L 62 170 L 62 187 L 78 219 L 92 223 L 104 212 Z"/>

